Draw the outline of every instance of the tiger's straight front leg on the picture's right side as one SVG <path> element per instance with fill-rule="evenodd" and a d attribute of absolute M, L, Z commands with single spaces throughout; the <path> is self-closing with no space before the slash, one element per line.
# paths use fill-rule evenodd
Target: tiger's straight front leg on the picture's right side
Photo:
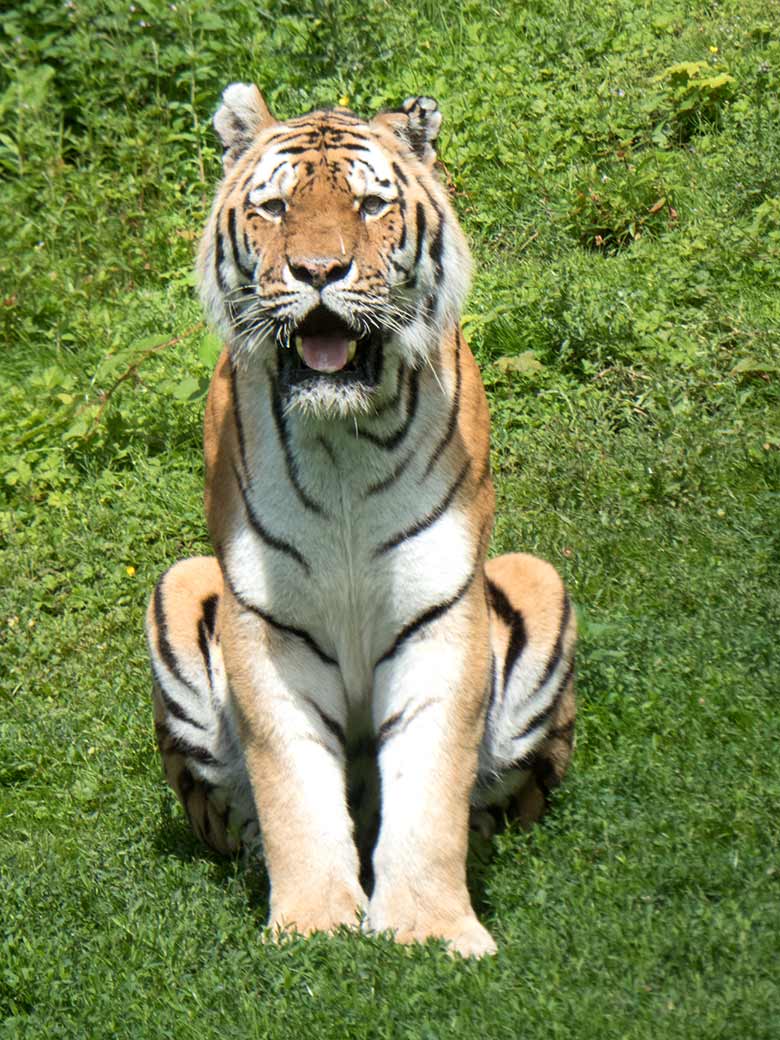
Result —
<path fill-rule="evenodd" d="M 410 641 L 376 668 L 382 825 L 368 921 L 398 942 L 442 938 L 479 957 L 495 943 L 471 907 L 466 855 L 488 655 L 457 632 Z"/>

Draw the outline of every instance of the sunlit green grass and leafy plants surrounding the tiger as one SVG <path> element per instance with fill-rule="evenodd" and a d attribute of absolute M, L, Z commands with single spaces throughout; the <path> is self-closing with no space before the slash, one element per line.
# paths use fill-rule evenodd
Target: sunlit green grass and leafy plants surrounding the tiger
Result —
<path fill-rule="evenodd" d="M 0 15 L 0 1037 L 780 1037 L 777 0 L 19 0 Z M 470 860 L 490 961 L 262 941 L 190 836 L 142 614 L 208 551 L 208 122 L 431 94 L 493 552 L 577 604 L 572 771 Z"/>

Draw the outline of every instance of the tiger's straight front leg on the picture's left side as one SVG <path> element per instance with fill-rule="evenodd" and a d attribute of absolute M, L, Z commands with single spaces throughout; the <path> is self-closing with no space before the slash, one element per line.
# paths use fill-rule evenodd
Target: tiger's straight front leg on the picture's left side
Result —
<path fill-rule="evenodd" d="M 340 673 L 226 592 L 225 659 L 263 835 L 268 925 L 355 927 L 366 899 L 346 804 Z"/>

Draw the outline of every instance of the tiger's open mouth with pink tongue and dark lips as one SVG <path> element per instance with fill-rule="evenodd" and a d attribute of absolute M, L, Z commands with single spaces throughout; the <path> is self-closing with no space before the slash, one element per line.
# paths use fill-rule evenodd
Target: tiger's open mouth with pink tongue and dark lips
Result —
<path fill-rule="evenodd" d="M 381 366 L 379 333 L 361 336 L 327 307 L 316 307 L 290 336 L 292 350 L 282 349 L 281 366 L 287 381 L 331 379 L 375 386 Z"/>

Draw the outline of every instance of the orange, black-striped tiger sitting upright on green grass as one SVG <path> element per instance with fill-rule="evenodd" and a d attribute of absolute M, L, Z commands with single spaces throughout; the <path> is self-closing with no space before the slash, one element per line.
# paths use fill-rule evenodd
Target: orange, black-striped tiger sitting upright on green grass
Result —
<path fill-rule="evenodd" d="M 275 931 L 362 918 L 478 957 L 470 813 L 529 823 L 560 782 L 575 622 L 549 564 L 486 562 L 489 418 L 440 124 L 430 98 L 278 122 L 256 86 L 226 89 L 199 258 L 227 343 L 205 418 L 215 556 L 163 575 L 148 638 L 167 780 L 206 843 L 261 852 Z"/>

